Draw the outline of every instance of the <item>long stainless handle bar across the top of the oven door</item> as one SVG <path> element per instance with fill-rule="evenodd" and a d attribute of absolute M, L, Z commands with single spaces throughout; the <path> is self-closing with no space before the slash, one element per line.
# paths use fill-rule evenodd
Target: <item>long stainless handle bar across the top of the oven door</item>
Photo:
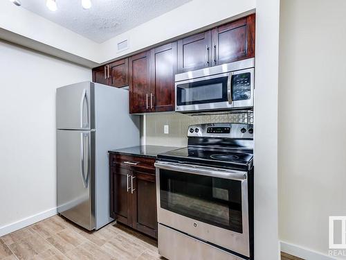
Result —
<path fill-rule="evenodd" d="M 228 180 L 246 180 L 248 177 L 248 173 L 246 171 L 235 171 L 223 168 L 195 166 L 191 164 L 174 164 L 171 162 L 155 162 L 154 165 L 156 168 L 162 168 L 168 171 L 177 171 L 210 177 L 219 177 Z"/>

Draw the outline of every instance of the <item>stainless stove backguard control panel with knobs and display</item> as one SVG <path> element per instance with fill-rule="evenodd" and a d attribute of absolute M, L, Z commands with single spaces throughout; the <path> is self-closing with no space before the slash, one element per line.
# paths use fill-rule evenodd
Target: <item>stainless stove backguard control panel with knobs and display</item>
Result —
<path fill-rule="evenodd" d="M 203 123 L 190 125 L 188 137 L 253 139 L 253 125 L 246 123 Z"/>

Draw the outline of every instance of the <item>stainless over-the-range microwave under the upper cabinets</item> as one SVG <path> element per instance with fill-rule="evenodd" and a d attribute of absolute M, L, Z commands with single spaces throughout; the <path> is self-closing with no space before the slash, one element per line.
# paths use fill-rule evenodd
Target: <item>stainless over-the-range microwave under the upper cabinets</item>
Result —
<path fill-rule="evenodd" d="M 253 107 L 253 75 L 251 68 L 176 82 L 176 112 Z"/>

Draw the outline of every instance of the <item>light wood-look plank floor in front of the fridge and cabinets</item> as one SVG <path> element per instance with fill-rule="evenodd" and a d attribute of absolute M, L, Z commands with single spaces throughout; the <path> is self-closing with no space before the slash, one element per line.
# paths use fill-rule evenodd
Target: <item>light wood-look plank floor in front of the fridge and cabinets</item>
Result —
<path fill-rule="evenodd" d="M 53 216 L 0 238 L 1 260 L 164 259 L 154 239 L 111 223 L 86 232 Z"/>

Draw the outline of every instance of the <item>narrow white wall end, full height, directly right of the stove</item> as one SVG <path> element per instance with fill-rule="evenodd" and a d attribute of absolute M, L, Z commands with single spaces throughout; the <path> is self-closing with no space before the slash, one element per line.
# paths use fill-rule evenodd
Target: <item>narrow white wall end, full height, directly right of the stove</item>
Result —
<path fill-rule="evenodd" d="M 280 1 L 256 2 L 255 259 L 279 258 L 277 216 L 277 88 Z"/>

